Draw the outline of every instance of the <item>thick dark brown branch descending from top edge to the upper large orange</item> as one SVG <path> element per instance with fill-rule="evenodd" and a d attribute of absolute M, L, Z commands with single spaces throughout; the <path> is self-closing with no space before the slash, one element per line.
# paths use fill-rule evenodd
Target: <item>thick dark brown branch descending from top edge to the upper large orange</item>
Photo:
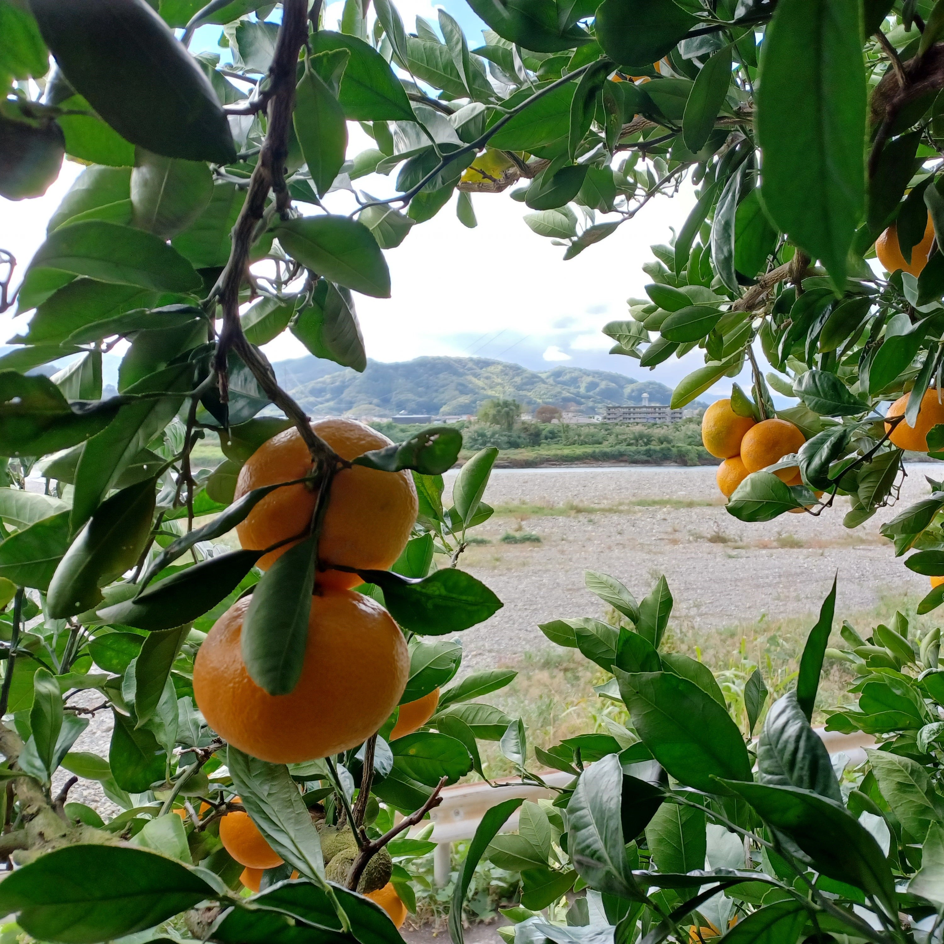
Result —
<path fill-rule="evenodd" d="M 315 9 L 320 8 L 315 3 Z M 317 19 L 317 13 L 315 13 Z M 285 0 L 282 5 L 282 23 L 278 28 L 276 51 L 269 67 L 266 90 L 268 123 L 259 160 L 249 178 L 243 210 L 233 228 L 232 249 L 222 275 L 213 287 L 211 298 L 219 300 L 223 310 L 223 328 L 214 356 L 214 367 L 220 386 L 220 398 L 228 400 L 227 355 L 236 352 L 259 381 L 266 396 L 295 424 L 299 434 L 320 464 L 337 462 L 337 455 L 312 431 L 308 416 L 276 382 L 271 370 L 256 349 L 245 339 L 239 318 L 239 293 L 249 271 L 249 249 L 256 230 L 265 215 L 266 200 L 275 194 L 276 210 L 282 216 L 289 210 L 291 197 L 285 183 L 285 161 L 288 158 L 289 128 L 295 108 L 295 78 L 298 55 L 308 42 L 309 11 L 306 0 Z"/>

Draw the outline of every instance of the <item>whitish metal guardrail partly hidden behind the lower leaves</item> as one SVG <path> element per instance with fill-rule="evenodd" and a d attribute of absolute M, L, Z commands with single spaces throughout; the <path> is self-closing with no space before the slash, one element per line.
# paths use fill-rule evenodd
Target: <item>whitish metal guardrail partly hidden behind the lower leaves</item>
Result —
<path fill-rule="evenodd" d="M 831 754 L 840 751 L 848 754 L 852 765 L 861 764 L 866 759 L 865 749 L 875 743 L 871 734 L 856 732 L 843 734 L 815 728 L 826 750 Z M 566 786 L 573 777 L 559 770 L 550 770 L 540 775 L 551 786 Z M 520 777 L 506 777 L 495 781 L 497 786 L 489 784 L 456 784 L 447 786 L 442 793 L 443 801 L 430 812 L 432 834 L 430 841 L 436 843 L 433 852 L 433 881 L 436 885 L 447 885 L 449 881 L 450 845 L 460 839 L 471 839 L 479 827 L 481 818 L 503 800 L 512 797 L 524 797 L 526 800 L 551 800 L 556 794 L 553 790 L 532 784 L 522 784 Z M 426 823 L 413 827 L 419 832 Z M 502 833 L 514 833 L 518 828 L 518 814 L 515 812 L 502 827 Z"/>

